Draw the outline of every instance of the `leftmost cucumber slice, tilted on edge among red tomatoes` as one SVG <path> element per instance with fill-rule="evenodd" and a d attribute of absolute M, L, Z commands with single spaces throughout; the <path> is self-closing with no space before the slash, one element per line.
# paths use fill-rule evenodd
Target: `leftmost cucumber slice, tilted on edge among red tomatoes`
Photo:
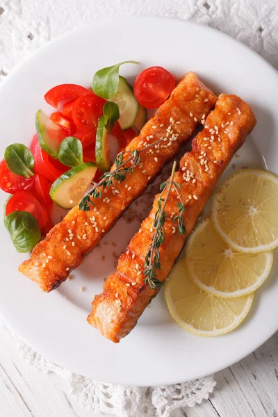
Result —
<path fill-rule="evenodd" d="M 35 115 L 35 128 L 38 133 L 38 142 L 42 149 L 52 158 L 58 159 L 58 149 L 60 147 L 60 128 L 49 119 L 42 110 Z"/>

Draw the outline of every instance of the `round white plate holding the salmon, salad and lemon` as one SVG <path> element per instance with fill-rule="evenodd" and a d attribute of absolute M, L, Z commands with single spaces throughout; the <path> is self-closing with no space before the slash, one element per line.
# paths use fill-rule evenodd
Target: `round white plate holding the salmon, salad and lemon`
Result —
<path fill-rule="evenodd" d="M 90 85 L 101 67 L 124 60 L 124 76 L 161 65 L 177 78 L 197 72 L 215 92 L 245 99 L 257 117 L 256 129 L 240 150 L 237 167 L 268 168 L 278 174 L 278 76 L 258 55 L 218 31 L 188 22 L 162 18 L 115 19 L 81 28 L 40 49 L 17 67 L 0 88 L 0 154 L 7 145 L 28 145 L 35 132 L 38 108 L 50 112 L 43 95 L 60 83 Z M 227 172 L 231 172 L 230 167 Z M 6 195 L 1 193 L 3 205 Z M 174 323 L 165 309 L 163 291 L 146 309 L 129 336 L 115 345 L 90 327 L 86 317 L 92 296 L 114 270 L 112 252 L 120 254 L 138 229 L 135 221 L 117 222 L 101 245 L 67 281 L 50 294 L 17 272 L 27 258 L 10 243 L 1 222 L 0 309 L 8 324 L 47 359 L 106 382 L 148 386 L 172 384 L 225 368 L 256 349 L 278 328 L 277 258 L 270 277 L 256 294 L 242 326 L 226 336 L 199 338 Z M 108 249 L 107 249 L 108 248 Z M 106 261 L 101 256 L 106 251 Z M 84 286 L 86 291 L 79 292 Z"/>

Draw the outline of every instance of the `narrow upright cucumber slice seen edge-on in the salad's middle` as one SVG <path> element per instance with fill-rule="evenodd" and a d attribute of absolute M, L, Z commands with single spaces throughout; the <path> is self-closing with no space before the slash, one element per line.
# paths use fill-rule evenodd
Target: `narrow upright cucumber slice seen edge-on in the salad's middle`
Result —
<path fill-rule="evenodd" d="M 108 131 L 104 127 L 105 117 L 99 117 L 97 124 L 97 137 L 96 137 L 96 161 L 99 171 L 106 172 L 111 167 L 111 153 L 108 145 Z"/>

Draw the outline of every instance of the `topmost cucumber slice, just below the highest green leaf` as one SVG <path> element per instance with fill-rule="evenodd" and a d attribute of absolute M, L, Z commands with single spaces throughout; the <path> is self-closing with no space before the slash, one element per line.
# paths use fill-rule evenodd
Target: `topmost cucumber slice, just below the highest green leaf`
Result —
<path fill-rule="evenodd" d="M 131 85 L 123 76 L 119 78 L 119 87 L 110 101 L 113 101 L 120 107 L 120 119 L 118 122 L 122 130 L 126 130 L 133 126 L 133 123 L 136 121 L 139 104 L 133 94 Z"/>

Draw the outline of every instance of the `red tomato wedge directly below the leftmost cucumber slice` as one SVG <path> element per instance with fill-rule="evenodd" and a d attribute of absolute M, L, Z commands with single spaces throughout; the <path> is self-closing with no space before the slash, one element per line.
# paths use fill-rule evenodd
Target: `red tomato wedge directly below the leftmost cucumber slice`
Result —
<path fill-rule="evenodd" d="M 69 167 L 63 165 L 54 158 L 51 158 L 47 152 L 40 147 L 38 143 L 38 136 L 35 135 L 31 142 L 30 150 L 33 154 L 35 165 L 35 174 L 40 174 L 50 183 L 56 181 L 60 175 L 69 170 Z"/>

